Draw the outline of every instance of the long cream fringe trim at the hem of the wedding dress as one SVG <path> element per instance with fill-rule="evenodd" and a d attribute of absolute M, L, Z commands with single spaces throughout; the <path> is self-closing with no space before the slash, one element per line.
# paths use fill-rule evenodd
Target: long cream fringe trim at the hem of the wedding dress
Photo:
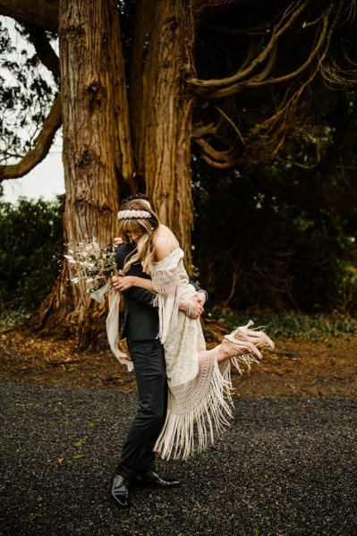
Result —
<path fill-rule="evenodd" d="M 155 446 L 163 458 L 184 460 L 207 447 L 209 440 L 213 444 L 215 432 L 229 426 L 233 405 L 230 362 L 218 365 L 214 348 L 200 353 L 199 367 L 195 379 L 169 389 L 166 421 Z"/>

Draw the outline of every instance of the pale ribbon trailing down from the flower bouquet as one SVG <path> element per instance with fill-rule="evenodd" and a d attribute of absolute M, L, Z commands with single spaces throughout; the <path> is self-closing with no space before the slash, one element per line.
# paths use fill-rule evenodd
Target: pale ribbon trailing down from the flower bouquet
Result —
<path fill-rule="evenodd" d="M 118 348 L 118 336 L 119 336 L 119 303 L 120 294 L 115 290 L 114 286 L 108 281 L 106 285 L 102 286 L 94 293 L 90 294 L 90 297 L 96 302 L 101 303 L 104 300 L 106 293 L 109 298 L 109 312 L 106 317 L 106 336 L 111 351 L 115 354 L 116 359 L 128 367 L 129 372 L 134 368 L 131 361 L 128 361 L 126 353 L 123 353 Z"/>

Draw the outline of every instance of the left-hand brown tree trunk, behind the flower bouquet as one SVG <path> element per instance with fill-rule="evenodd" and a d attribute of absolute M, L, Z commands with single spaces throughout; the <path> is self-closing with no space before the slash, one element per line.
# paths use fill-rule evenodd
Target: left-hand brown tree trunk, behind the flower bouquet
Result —
<path fill-rule="evenodd" d="M 112 242 L 119 188 L 132 190 L 132 151 L 115 0 L 61 0 L 59 40 L 64 124 L 64 240 Z M 119 137 L 120 135 L 120 137 Z M 81 344 L 103 331 L 105 305 L 68 286 L 64 266 L 38 311 L 38 328 L 67 325 Z M 100 322 L 99 322 L 100 319 Z"/>

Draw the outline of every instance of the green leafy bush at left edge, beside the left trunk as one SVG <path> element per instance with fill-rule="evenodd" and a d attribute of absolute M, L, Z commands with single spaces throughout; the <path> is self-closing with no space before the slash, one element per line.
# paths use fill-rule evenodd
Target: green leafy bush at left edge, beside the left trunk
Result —
<path fill-rule="evenodd" d="M 55 283 L 63 249 L 60 203 L 0 202 L 0 305 L 33 310 Z"/>

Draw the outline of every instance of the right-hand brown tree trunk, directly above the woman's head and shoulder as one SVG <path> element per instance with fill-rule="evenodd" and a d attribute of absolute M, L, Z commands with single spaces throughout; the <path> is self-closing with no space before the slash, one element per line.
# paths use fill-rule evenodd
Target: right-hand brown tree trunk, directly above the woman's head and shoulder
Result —
<path fill-rule="evenodd" d="M 160 220 L 174 230 L 191 269 L 191 108 L 194 28 L 186 0 L 136 8 L 130 113 L 139 174 Z"/>

